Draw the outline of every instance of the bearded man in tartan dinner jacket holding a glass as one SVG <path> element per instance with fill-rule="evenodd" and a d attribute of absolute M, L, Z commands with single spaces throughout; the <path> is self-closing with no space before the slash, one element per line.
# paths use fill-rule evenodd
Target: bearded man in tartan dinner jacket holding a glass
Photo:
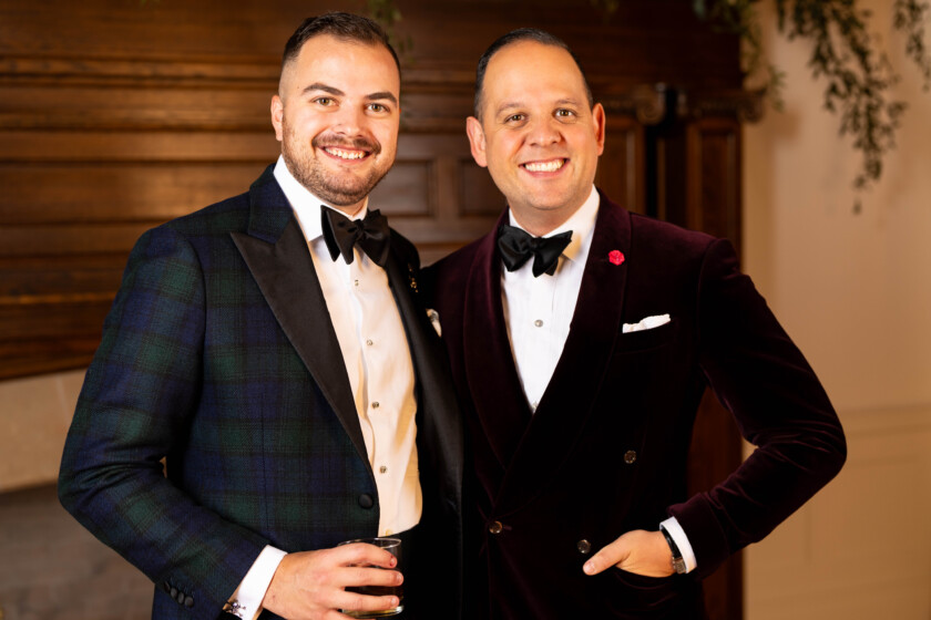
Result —
<path fill-rule="evenodd" d="M 403 617 L 457 616 L 460 422 L 417 251 L 368 204 L 399 96 L 377 24 L 306 20 L 272 100 L 277 164 L 130 256 L 59 490 L 154 581 L 153 618 L 335 618 L 400 602 L 348 588 L 402 581 Z M 338 546 L 372 536 L 400 559 Z"/>

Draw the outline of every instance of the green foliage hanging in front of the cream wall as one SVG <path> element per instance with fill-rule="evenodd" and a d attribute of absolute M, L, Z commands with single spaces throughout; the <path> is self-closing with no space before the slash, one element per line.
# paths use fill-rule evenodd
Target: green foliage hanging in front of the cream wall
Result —
<path fill-rule="evenodd" d="M 883 155 L 896 145 L 896 131 L 906 103 L 888 99 L 899 75 L 874 45 L 871 14 L 858 0 L 775 0 L 779 32 L 789 40 L 814 44 L 808 65 L 826 82 L 825 107 L 840 116 L 840 134 L 851 135 L 863 164 L 853 186 L 860 190 L 879 180 Z M 736 32 L 745 43 L 748 75 L 767 72 L 767 91 L 781 103 L 781 74 L 764 60 L 757 0 L 693 0 L 696 14 Z M 931 86 L 931 60 L 924 44 L 924 22 L 931 12 L 924 0 L 894 0 L 893 27 L 906 38 L 906 55 L 921 71 L 924 90 Z"/>

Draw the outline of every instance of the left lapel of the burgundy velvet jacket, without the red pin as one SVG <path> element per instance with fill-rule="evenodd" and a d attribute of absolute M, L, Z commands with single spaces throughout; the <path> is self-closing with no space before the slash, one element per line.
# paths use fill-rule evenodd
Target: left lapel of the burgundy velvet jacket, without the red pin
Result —
<path fill-rule="evenodd" d="M 485 237 L 467 283 L 462 349 L 475 413 L 502 467 L 511 462 L 530 422 L 501 302 L 501 260 Z M 442 320 L 442 318 L 441 318 Z"/>

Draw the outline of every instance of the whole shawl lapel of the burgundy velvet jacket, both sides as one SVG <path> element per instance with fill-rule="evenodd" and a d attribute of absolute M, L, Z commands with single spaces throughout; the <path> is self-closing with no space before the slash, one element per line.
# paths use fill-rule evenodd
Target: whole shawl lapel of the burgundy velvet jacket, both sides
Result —
<path fill-rule="evenodd" d="M 505 467 L 499 515 L 520 508 L 549 483 L 563 462 L 553 455 L 569 455 L 585 425 L 624 307 L 626 265 L 615 265 L 608 257 L 613 250 L 626 257 L 630 249 L 630 214 L 602 196 L 569 338 L 529 423 L 504 326 L 501 259 L 493 235 L 478 252 L 466 301 L 463 348 L 478 417 Z"/>

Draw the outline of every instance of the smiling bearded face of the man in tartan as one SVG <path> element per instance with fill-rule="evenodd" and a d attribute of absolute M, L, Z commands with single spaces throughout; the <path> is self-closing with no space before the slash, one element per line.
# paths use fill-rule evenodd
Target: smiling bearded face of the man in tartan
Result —
<path fill-rule="evenodd" d="M 272 124 L 294 177 L 348 215 L 395 163 L 400 75 L 391 52 L 329 34 L 285 64 Z"/>

